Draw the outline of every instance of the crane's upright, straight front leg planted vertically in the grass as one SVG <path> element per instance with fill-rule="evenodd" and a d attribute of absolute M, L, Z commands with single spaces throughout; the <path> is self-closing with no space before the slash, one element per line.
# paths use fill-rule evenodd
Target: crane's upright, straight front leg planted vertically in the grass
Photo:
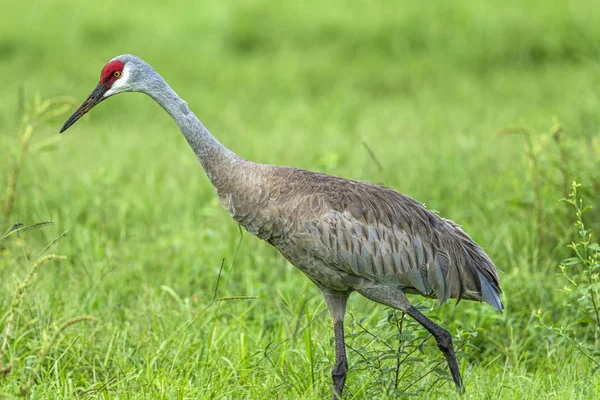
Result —
<path fill-rule="evenodd" d="M 346 372 L 348 371 L 346 343 L 344 341 L 344 314 L 346 314 L 346 303 L 351 292 L 332 291 L 326 288 L 321 288 L 321 291 L 333 321 L 335 364 L 331 371 L 331 377 L 333 378 L 333 400 L 339 400 L 342 398 L 344 384 L 346 383 Z"/>

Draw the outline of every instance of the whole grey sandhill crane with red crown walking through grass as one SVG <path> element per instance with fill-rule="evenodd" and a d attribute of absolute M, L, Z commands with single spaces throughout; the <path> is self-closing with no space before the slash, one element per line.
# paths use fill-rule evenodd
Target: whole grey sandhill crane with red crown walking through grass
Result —
<path fill-rule="evenodd" d="M 145 93 L 164 108 L 229 215 L 275 246 L 321 290 L 334 327 L 334 400 L 342 396 L 348 370 L 344 314 L 352 292 L 417 320 L 435 337 L 456 388 L 464 390 L 452 336 L 405 295 L 437 298 L 440 304 L 449 298 L 485 301 L 502 311 L 494 264 L 458 225 L 383 186 L 243 159 L 210 134 L 150 65 L 130 54 L 104 66 L 98 86 L 60 132 L 123 92 Z"/>

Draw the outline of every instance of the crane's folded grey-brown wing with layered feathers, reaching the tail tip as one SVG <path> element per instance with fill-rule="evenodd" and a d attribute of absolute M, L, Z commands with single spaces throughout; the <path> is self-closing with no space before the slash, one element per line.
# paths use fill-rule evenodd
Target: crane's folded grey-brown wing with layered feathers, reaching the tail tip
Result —
<path fill-rule="evenodd" d="M 334 183 L 333 190 L 308 195 L 323 210 L 304 223 L 314 257 L 351 276 L 441 303 L 466 298 L 502 310 L 494 264 L 458 225 L 392 189 Z"/>

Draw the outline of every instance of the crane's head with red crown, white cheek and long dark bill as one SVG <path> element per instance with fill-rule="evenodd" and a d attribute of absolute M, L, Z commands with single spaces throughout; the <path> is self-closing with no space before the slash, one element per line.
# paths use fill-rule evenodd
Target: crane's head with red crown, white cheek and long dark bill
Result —
<path fill-rule="evenodd" d="M 131 54 L 120 55 L 110 60 L 102 68 L 98 86 L 96 86 L 73 115 L 67 119 L 60 129 L 60 133 L 66 131 L 79 118 L 104 99 L 122 92 L 143 91 L 145 89 L 144 85 L 148 83 L 147 79 L 144 79 L 147 76 L 148 69 L 149 71 L 153 71 L 148 64 Z"/>

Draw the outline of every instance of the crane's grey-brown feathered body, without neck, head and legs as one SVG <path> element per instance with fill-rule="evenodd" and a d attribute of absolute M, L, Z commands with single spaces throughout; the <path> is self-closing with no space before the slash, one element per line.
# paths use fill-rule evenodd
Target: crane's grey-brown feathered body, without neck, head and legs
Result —
<path fill-rule="evenodd" d="M 214 184 L 240 225 L 323 286 L 387 285 L 502 310 L 494 264 L 481 248 L 452 221 L 392 189 L 246 160 Z"/>

